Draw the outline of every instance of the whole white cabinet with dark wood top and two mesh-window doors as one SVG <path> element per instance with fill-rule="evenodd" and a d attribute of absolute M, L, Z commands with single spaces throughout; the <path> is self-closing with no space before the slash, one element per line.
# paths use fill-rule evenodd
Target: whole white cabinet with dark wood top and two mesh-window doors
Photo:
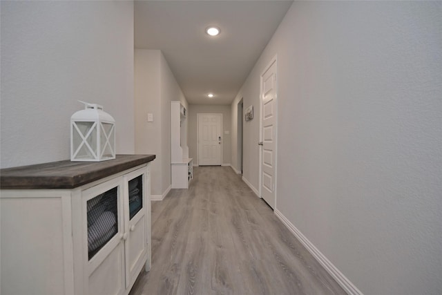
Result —
<path fill-rule="evenodd" d="M 26 178 L 23 186 L 16 184 L 14 188 L 6 181 L 13 180 L 17 171 L 2 169 L 0 293 L 128 294 L 143 267 L 146 271 L 151 267 L 148 162 L 155 156 L 144 157 L 140 164 L 141 158 L 117 155 L 119 164 L 137 159 L 117 169 L 112 166 L 113 160 L 106 164 L 67 161 L 65 165 L 78 171 L 93 167 L 93 172 L 73 178 L 72 173 L 61 169 L 52 172 L 52 182 L 63 183 L 65 175 L 81 181 L 112 173 L 69 189 L 43 188 L 54 184 L 43 184 L 41 189 L 31 184 L 32 189 L 22 189 L 29 185 Z M 31 170 L 39 171 L 39 165 L 33 166 Z M 45 167 L 40 171 L 50 174 Z M 57 181 L 57 177 L 62 179 Z"/>

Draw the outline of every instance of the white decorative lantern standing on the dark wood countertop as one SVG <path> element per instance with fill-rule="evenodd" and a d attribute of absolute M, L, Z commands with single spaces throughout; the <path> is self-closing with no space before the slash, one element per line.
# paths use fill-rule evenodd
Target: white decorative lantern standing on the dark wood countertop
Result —
<path fill-rule="evenodd" d="M 70 117 L 70 160 L 99 162 L 115 159 L 115 120 L 103 106 L 84 103 Z"/>

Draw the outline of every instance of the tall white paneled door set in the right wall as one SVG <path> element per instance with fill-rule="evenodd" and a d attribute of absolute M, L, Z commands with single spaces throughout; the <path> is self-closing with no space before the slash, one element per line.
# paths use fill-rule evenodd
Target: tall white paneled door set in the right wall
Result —
<path fill-rule="evenodd" d="M 276 59 L 261 75 L 260 193 L 273 209 L 276 204 Z"/>

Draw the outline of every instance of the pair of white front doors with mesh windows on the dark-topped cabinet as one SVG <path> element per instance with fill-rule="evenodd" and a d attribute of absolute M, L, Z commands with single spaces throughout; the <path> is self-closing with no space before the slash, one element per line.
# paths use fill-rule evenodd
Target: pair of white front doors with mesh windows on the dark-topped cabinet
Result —
<path fill-rule="evenodd" d="M 82 191 L 82 229 L 87 229 L 83 236 L 88 241 L 83 248 L 88 257 L 84 294 L 124 294 L 135 283 L 148 254 L 146 187 L 148 171 L 140 168 Z M 108 211 L 100 212 L 103 206 Z M 100 242 L 104 244 L 97 248 Z"/>

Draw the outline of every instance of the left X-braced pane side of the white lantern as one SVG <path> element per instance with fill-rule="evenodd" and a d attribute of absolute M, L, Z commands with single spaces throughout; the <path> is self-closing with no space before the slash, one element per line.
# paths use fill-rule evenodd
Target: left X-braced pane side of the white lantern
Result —
<path fill-rule="evenodd" d="M 95 122 L 74 122 L 73 128 L 74 153 L 79 149 L 76 159 L 97 158 L 97 129 Z M 91 129 L 93 129 L 91 131 Z"/>

